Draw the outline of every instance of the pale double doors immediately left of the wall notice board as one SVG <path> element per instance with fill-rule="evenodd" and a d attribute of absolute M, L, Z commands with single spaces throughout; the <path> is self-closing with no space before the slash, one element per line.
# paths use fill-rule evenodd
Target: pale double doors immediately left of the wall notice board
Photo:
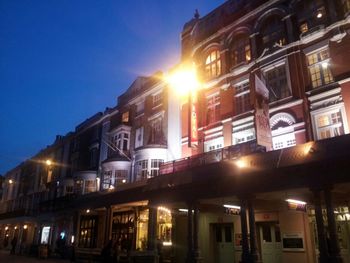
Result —
<path fill-rule="evenodd" d="M 261 258 L 264 263 L 282 262 L 281 231 L 278 223 L 258 224 Z"/>

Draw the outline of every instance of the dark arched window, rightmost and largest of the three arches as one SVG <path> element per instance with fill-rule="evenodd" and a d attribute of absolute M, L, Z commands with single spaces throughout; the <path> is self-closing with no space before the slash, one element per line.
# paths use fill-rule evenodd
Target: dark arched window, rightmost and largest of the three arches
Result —
<path fill-rule="evenodd" d="M 287 43 L 285 26 L 279 16 L 269 17 L 261 28 L 263 48 L 283 46 Z"/>

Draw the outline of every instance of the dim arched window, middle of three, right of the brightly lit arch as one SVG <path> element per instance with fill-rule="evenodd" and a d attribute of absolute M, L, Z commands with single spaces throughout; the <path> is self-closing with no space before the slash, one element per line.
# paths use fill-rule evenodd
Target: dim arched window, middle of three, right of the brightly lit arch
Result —
<path fill-rule="evenodd" d="M 234 66 L 251 60 L 250 42 L 247 35 L 240 34 L 234 39 L 231 54 Z"/>

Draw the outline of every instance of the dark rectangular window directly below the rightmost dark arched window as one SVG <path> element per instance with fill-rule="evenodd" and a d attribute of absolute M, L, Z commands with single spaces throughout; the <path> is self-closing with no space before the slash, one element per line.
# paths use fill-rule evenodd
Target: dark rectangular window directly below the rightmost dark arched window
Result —
<path fill-rule="evenodd" d="M 264 76 L 266 86 L 270 91 L 270 102 L 284 99 L 291 95 L 285 64 L 265 71 Z"/>

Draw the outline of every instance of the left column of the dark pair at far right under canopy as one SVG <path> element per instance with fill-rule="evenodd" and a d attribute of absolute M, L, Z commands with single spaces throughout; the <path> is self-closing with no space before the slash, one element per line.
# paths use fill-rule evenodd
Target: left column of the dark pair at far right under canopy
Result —
<path fill-rule="evenodd" d="M 326 241 L 323 216 L 322 216 L 321 193 L 320 192 L 321 191 L 319 189 L 313 190 L 317 237 L 318 237 L 318 250 L 320 252 L 319 262 L 320 263 L 327 263 L 327 262 L 329 262 L 328 261 L 329 256 L 328 256 L 327 241 Z"/>

